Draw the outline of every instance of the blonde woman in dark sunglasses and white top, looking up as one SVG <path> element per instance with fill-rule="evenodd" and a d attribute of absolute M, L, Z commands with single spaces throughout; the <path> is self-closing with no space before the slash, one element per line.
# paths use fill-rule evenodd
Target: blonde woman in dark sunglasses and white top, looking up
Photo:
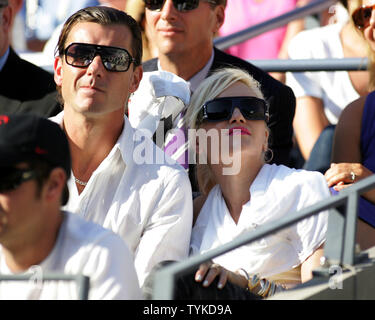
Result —
<path fill-rule="evenodd" d="M 220 246 L 330 195 L 322 174 L 266 163 L 272 154 L 268 106 L 248 73 L 227 68 L 205 79 L 192 96 L 186 120 L 191 129 L 208 137 L 202 143 L 197 131 L 197 139 L 191 141 L 200 161 L 202 193 L 195 199 L 191 254 Z M 219 147 L 224 140 L 228 154 Z M 236 174 L 223 174 L 238 160 Z M 271 281 L 290 288 L 312 278 L 323 254 L 326 229 L 324 212 L 201 265 L 195 279 L 208 287 L 218 277 L 218 288 L 229 280 L 242 288 L 257 287 L 255 292 L 263 296 L 274 291 Z"/>

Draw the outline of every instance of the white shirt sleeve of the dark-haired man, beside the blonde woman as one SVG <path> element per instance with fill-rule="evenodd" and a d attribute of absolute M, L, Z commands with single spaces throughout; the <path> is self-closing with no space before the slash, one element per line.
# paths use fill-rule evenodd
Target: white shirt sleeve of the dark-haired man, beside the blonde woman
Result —
<path fill-rule="evenodd" d="M 141 287 L 155 264 L 179 261 L 189 254 L 193 219 L 190 181 L 182 170 L 167 179 L 135 253 Z"/>

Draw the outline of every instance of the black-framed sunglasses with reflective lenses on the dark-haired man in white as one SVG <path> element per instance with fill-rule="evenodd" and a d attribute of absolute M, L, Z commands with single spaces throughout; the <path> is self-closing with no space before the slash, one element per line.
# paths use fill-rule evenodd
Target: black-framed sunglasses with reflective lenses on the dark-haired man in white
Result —
<path fill-rule="evenodd" d="M 67 64 L 77 68 L 87 68 L 94 58 L 99 55 L 104 68 L 113 72 L 128 71 L 136 60 L 123 48 L 101 46 L 88 43 L 71 43 L 64 51 Z"/>

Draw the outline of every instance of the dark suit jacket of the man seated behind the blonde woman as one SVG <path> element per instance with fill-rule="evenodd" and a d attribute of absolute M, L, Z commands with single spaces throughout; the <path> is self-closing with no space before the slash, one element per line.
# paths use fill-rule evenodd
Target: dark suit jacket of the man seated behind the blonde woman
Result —
<path fill-rule="evenodd" d="M 214 48 L 214 52 L 214 60 L 208 75 L 219 68 L 234 66 L 246 70 L 260 83 L 270 112 L 268 123 L 270 128 L 269 148 L 273 151 L 273 159 L 270 162 L 290 165 L 290 151 L 293 145 L 293 118 L 296 107 L 293 91 L 245 60 L 226 54 L 217 48 Z M 143 70 L 156 71 L 157 65 L 157 58 L 146 61 L 143 63 Z"/>

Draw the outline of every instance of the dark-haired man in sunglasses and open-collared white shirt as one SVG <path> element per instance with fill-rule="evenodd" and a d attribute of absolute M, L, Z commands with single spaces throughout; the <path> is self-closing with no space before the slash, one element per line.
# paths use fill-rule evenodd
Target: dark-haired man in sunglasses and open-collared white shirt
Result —
<path fill-rule="evenodd" d="M 140 29 L 123 11 L 85 8 L 64 24 L 57 51 L 64 111 L 53 120 L 72 153 L 65 208 L 119 234 L 135 255 L 142 285 L 156 263 L 187 257 L 192 195 L 178 164 L 137 158 L 139 150 L 164 158 L 151 139 L 137 139 L 125 116 L 142 78 Z"/>

